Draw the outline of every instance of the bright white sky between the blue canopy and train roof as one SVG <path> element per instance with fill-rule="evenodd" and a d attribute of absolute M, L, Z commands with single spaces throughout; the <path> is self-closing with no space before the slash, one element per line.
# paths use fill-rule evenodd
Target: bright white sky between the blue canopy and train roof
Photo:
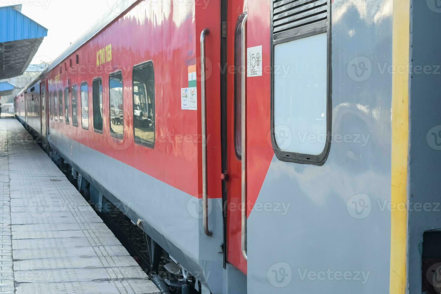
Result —
<path fill-rule="evenodd" d="M 22 4 L 22 13 L 48 29 L 32 60 L 49 63 L 84 34 L 117 0 L 0 0 L 0 6 Z"/>

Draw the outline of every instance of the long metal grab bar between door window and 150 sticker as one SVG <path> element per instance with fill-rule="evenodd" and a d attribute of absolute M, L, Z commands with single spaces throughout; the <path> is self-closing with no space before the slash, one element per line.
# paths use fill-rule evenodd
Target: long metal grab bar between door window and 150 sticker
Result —
<path fill-rule="evenodd" d="M 247 86 L 247 15 L 242 21 L 242 254 L 247 260 L 247 111 L 246 111 L 246 86 Z"/>

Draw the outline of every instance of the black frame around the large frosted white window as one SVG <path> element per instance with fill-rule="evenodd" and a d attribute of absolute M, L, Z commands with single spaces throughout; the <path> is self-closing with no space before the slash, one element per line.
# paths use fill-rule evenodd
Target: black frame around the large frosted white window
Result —
<path fill-rule="evenodd" d="M 297 29 L 292 29 L 289 31 L 285 31 L 277 34 L 277 38 L 274 38 L 273 33 L 273 1 L 270 2 L 270 76 L 271 76 L 271 115 L 270 115 L 270 123 L 271 123 L 271 143 L 273 146 L 273 151 L 277 158 L 283 162 L 292 162 L 299 164 L 311 164 L 316 166 L 322 166 L 325 164 L 326 159 L 329 156 L 329 151 L 331 147 L 331 136 L 332 136 L 332 31 L 331 31 L 331 23 L 332 23 L 332 5 L 331 0 L 328 0 L 327 11 L 328 16 L 326 20 L 325 26 L 313 25 L 310 26 L 310 30 L 304 32 L 304 27 L 299 27 Z M 311 37 L 316 34 L 327 33 L 327 93 L 326 93 L 326 142 L 323 151 L 319 155 L 309 155 L 302 153 L 295 153 L 289 151 L 281 150 L 276 142 L 275 137 L 275 125 L 274 125 L 274 46 L 280 43 L 297 40 L 300 38 Z"/>

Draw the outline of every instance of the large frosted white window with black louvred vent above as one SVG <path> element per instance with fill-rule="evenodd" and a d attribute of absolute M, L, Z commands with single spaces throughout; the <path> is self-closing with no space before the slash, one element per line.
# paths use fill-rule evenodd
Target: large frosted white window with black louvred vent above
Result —
<path fill-rule="evenodd" d="M 300 8 L 273 1 L 272 143 L 280 160 L 323 165 L 331 127 L 331 7 L 311 0 Z"/>

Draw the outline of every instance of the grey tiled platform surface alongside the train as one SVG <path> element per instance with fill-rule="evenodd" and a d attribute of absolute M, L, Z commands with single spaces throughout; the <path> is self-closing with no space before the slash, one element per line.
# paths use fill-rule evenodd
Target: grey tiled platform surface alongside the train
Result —
<path fill-rule="evenodd" d="M 0 293 L 159 293 L 15 118 L 0 119 Z"/>

